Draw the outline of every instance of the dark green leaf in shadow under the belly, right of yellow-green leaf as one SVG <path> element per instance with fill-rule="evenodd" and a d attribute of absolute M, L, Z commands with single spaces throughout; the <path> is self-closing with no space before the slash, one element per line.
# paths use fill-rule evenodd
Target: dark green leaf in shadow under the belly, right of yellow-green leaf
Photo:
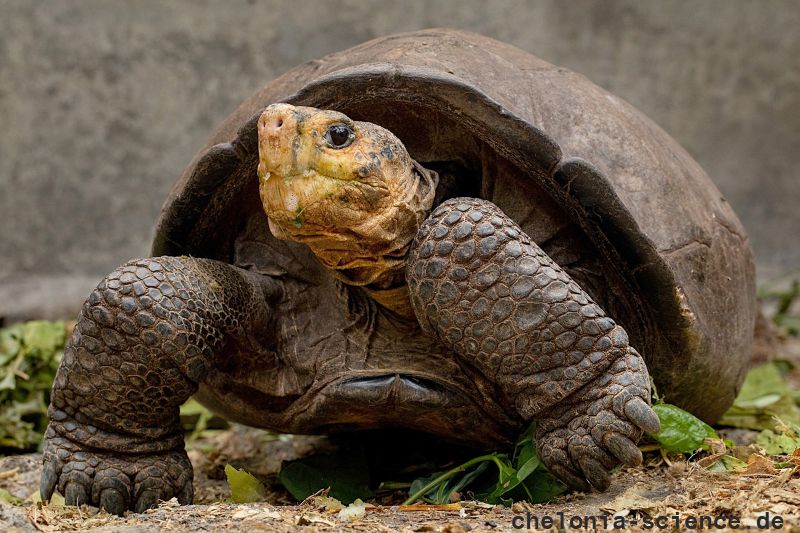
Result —
<path fill-rule="evenodd" d="M 330 488 L 328 495 L 331 498 L 345 505 L 374 495 L 369 489 L 369 467 L 363 450 L 285 461 L 278 473 L 278 481 L 300 501 L 326 488 Z"/>

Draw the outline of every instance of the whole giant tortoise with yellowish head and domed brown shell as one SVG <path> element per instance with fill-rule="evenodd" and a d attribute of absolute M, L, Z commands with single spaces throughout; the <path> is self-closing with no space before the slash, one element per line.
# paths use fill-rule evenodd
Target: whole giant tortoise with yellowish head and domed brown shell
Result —
<path fill-rule="evenodd" d="M 151 258 L 91 293 L 41 493 L 192 500 L 194 394 L 294 433 L 399 427 L 539 453 L 580 490 L 742 382 L 753 257 L 699 165 L 629 104 L 492 39 L 426 30 L 301 65 L 175 183 Z M 641 353 L 641 355 L 640 355 Z"/>

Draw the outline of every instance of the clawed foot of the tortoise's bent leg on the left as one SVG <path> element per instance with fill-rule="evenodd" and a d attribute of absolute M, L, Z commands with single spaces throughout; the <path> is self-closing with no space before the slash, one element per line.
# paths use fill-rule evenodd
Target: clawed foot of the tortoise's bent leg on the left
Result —
<path fill-rule="evenodd" d="M 94 505 L 120 516 L 128 510 L 141 513 L 173 497 L 181 504 L 192 502 L 192 465 L 182 449 L 107 453 L 48 431 L 43 462 L 43 500 L 57 489 L 67 505 Z"/>

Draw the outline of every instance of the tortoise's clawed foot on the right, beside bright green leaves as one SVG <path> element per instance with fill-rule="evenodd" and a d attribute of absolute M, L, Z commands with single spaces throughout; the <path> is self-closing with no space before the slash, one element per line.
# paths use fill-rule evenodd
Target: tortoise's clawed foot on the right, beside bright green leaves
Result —
<path fill-rule="evenodd" d="M 609 471 L 618 464 L 641 464 L 636 443 L 642 430 L 659 429 L 648 379 L 642 357 L 629 347 L 600 376 L 543 413 L 536 444 L 545 466 L 572 488 L 588 491 L 608 488 Z"/>

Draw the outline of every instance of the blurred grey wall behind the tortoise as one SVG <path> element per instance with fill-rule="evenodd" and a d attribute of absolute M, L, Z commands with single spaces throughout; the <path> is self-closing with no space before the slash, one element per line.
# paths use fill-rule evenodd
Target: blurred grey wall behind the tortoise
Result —
<path fill-rule="evenodd" d="M 0 0 L 0 317 L 73 313 L 146 255 L 175 177 L 265 82 L 373 37 L 480 32 L 655 119 L 800 269 L 800 2 Z"/>

